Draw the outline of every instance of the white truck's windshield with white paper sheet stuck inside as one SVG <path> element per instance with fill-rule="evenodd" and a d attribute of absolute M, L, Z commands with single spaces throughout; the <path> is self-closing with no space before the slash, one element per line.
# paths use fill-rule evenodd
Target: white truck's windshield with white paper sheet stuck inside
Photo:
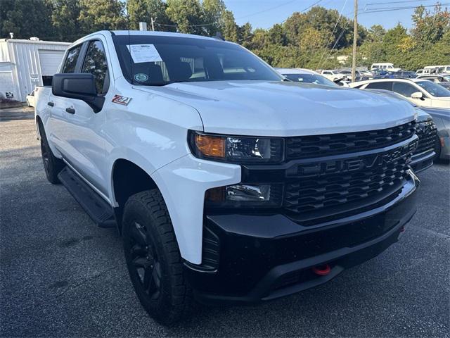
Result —
<path fill-rule="evenodd" d="M 283 80 L 275 70 L 236 44 L 155 35 L 115 35 L 113 41 L 122 73 L 133 84 Z"/>

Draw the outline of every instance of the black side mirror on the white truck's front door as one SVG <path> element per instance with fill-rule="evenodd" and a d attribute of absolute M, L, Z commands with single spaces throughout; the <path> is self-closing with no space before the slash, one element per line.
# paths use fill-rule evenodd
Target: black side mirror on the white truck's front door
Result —
<path fill-rule="evenodd" d="M 62 73 L 53 75 L 51 92 L 55 96 L 67 97 L 86 102 L 98 113 L 103 108 L 105 98 L 98 96 L 94 75 L 89 73 Z"/>

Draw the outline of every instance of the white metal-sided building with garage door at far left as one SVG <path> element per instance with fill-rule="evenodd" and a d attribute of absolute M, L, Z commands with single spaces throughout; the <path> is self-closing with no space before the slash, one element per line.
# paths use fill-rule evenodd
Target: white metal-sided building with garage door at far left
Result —
<path fill-rule="evenodd" d="M 0 39 L 0 96 L 25 101 L 34 87 L 50 84 L 69 42 Z"/>

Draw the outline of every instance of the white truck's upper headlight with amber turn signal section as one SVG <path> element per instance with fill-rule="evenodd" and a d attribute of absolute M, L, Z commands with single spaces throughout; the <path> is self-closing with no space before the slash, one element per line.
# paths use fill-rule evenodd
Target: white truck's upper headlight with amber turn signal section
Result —
<path fill-rule="evenodd" d="M 283 161 L 283 139 L 224 136 L 189 132 L 191 151 L 198 158 L 231 163 L 274 163 Z"/>

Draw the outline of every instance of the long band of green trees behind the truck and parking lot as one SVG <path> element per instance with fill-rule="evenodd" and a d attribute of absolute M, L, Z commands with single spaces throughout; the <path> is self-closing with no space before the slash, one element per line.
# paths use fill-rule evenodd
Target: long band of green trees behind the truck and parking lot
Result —
<path fill-rule="evenodd" d="M 353 20 L 314 6 L 269 29 L 237 25 L 223 0 L 0 0 L 0 38 L 39 37 L 72 42 L 96 30 L 155 30 L 214 36 L 238 42 L 275 67 L 336 68 L 352 63 Z M 450 12 L 439 3 L 418 6 L 413 27 L 359 25 L 357 65 L 392 62 L 416 70 L 450 63 Z M 338 58 L 340 56 L 340 58 Z"/>

